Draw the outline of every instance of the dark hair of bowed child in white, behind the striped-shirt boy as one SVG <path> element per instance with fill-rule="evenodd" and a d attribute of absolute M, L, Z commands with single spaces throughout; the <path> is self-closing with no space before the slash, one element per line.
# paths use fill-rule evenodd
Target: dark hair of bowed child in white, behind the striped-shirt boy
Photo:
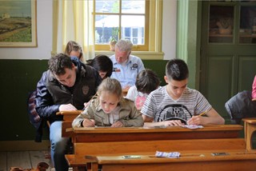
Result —
<path fill-rule="evenodd" d="M 149 94 L 154 89 L 158 89 L 160 79 L 153 70 L 145 69 L 138 73 L 135 85 L 139 92 Z"/>

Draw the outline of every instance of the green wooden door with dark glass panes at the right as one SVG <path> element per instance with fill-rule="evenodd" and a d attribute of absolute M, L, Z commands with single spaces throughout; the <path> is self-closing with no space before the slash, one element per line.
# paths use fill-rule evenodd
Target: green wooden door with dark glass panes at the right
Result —
<path fill-rule="evenodd" d="M 203 1 L 200 91 L 229 121 L 225 103 L 256 74 L 256 2 Z"/>

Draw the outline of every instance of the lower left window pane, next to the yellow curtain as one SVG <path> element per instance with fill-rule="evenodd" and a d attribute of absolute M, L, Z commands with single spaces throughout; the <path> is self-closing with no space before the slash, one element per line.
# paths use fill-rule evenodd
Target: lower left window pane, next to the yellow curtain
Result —
<path fill-rule="evenodd" d="M 95 15 L 95 44 L 108 44 L 112 38 L 118 40 L 118 15 Z"/>

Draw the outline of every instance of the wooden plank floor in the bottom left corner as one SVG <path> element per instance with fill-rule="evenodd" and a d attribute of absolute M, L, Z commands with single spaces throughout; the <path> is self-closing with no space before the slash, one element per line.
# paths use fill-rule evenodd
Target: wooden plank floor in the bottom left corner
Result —
<path fill-rule="evenodd" d="M 47 171 L 55 170 L 52 167 L 48 151 L 11 151 L 0 152 L 0 171 L 10 171 L 10 167 L 22 169 L 36 169 L 39 162 L 46 162 L 50 167 Z"/>

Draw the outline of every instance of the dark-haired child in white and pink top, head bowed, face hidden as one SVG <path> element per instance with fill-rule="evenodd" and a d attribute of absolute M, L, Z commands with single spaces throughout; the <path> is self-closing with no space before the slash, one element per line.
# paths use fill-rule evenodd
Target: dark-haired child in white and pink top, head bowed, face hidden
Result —
<path fill-rule="evenodd" d="M 137 75 L 135 85 L 131 86 L 128 90 L 126 98 L 134 101 L 136 108 L 140 110 L 142 109 L 144 101 L 146 101 L 146 97 L 154 91 L 154 89 L 158 89 L 159 85 L 160 79 L 153 70 L 142 70 Z"/>

